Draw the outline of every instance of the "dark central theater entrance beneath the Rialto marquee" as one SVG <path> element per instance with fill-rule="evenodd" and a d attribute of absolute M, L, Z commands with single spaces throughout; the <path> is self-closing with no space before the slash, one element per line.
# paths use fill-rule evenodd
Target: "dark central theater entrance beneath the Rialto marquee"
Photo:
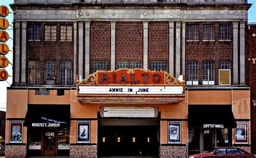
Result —
<path fill-rule="evenodd" d="M 159 126 L 139 126 L 140 120 L 126 120 L 126 126 L 118 122 L 98 127 L 98 156 L 158 156 Z"/>

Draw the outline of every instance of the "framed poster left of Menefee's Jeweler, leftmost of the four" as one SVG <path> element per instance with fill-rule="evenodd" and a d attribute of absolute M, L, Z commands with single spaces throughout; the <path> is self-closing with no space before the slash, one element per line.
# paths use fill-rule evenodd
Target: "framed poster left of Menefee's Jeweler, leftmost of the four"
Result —
<path fill-rule="evenodd" d="M 10 143 L 22 143 L 23 121 L 11 121 L 10 127 Z"/>

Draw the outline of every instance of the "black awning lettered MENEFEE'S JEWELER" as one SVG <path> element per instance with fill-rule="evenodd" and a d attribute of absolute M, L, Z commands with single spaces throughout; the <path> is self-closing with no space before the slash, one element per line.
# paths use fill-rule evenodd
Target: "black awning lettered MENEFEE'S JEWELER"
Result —
<path fill-rule="evenodd" d="M 70 105 L 28 105 L 24 126 L 29 128 L 70 126 Z"/>

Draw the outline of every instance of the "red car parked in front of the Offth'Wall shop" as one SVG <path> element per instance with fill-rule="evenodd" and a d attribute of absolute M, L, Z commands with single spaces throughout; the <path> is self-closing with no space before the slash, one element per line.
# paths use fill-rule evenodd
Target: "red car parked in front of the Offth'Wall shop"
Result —
<path fill-rule="evenodd" d="M 208 151 L 207 153 L 194 154 L 188 156 L 190 158 L 199 158 L 199 157 L 237 157 L 237 158 L 253 158 L 252 153 L 245 152 L 242 149 L 235 147 L 217 147 Z"/>

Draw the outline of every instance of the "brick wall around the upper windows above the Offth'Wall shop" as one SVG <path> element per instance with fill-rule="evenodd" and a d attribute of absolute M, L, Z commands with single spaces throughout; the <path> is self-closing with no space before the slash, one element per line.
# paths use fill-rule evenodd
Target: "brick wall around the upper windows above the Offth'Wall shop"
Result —
<path fill-rule="evenodd" d="M 209 23 L 214 25 L 214 41 L 203 41 L 203 25 L 199 23 L 186 23 L 186 25 L 199 26 L 199 41 L 186 40 L 186 62 L 199 62 L 199 84 L 203 84 L 203 61 L 214 61 L 214 84 L 219 84 L 219 61 L 231 61 L 231 84 L 232 84 L 232 61 L 233 61 L 233 42 L 232 42 L 232 24 L 231 26 L 231 41 L 219 41 L 219 24 Z M 186 30 L 187 31 L 187 30 Z"/>

